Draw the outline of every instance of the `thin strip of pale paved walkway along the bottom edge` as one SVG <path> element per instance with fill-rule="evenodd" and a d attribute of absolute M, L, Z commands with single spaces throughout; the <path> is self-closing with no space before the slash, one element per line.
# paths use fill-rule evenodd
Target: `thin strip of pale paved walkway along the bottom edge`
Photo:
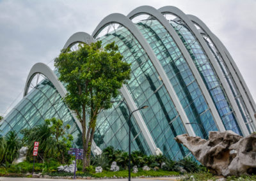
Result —
<path fill-rule="evenodd" d="M 131 178 L 131 181 L 157 181 L 157 180 L 177 180 L 179 177 L 161 177 L 161 178 Z M 57 178 L 11 178 L 0 177 L 0 181 L 70 181 L 73 179 L 57 179 Z M 76 179 L 86 180 L 86 179 Z M 127 181 L 128 178 L 116 178 L 116 179 L 92 179 L 92 181 Z"/>

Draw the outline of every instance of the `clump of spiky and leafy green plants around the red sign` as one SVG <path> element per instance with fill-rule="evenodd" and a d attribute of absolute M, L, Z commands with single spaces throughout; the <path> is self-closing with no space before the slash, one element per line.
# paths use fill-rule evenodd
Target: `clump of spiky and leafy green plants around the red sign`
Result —
<path fill-rule="evenodd" d="M 67 151 L 72 146 L 72 136 L 67 134 L 70 126 L 63 126 L 63 122 L 55 118 L 45 120 L 44 124 L 40 124 L 32 129 L 23 129 L 23 143 L 27 145 L 28 161 L 33 161 L 34 142 L 39 142 L 37 161 L 46 162 L 48 159 L 54 158 L 61 163 L 67 163 L 70 156 Z"/>

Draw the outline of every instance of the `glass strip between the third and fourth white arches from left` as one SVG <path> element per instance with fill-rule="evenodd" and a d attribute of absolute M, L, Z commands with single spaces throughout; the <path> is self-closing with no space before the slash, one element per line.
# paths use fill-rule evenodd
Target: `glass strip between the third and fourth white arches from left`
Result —
<path fill-rule="evenodd" d="M 217 131 L 204 96 L 177 45 L 163 25 L 157 20 L 143 20 L 138 23 L 143 36 L 154 50 L 166 75 L 184 108 L 196 135 L 207 138 L 211 130 Z"/>

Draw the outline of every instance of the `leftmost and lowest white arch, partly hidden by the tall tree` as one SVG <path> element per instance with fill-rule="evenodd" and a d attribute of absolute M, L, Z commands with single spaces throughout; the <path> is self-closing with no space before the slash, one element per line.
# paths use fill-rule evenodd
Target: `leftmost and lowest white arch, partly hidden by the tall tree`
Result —
<path fill-rule="evenodd" d="M 24 96 L 26 96 L 28 94 L 28 86 L 31 83 L 31 80 L 33 79 L 33 77 L 37 74 L 37 73 L 41 73 L 42 75 L 46 76 L 51 83 L 54 85 L 54 87 L 56 88 L 56 90 L 59 92 L 61 98 L 64 98 L 65 95 L 67 94 L 67 91 L 65 89 L 65 87 L 62 85 L 62 83 L 58 80 L 58 77 L 54 74 L 54 72 L 52 71 L 51 68 L 49 68 L 49 66 L 47 66 L 44 63 L 36 63 L 31 70 L 29 71 L 29 75 L 28 78 L 26 80 L 26 85 L 25 85 L 25 90 L 24 90 Z M 76 124 L 79 127 L 80 130 L 82 130 L 82 126 L 81 126 L 81 122 L 79 122 L 76 119 L 76 115 L 70 111 L 70 113 L 72 113 L 73 118 L 76 120 Z M 87 128 L 86 128 L 87 129 Z M 92 143 L 92 152 L 94 155 L 98 155 L 102 153 L 102 150 L 100 150 L 99 147 L 97 147 L 97 145 L 95 144 L 95 142 L 93 141 Z"/>

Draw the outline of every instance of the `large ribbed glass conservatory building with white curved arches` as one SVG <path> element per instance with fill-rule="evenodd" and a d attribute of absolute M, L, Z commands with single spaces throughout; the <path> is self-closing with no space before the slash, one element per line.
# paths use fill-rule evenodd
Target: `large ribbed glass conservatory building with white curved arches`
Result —
<path fill-rule="evenodd" d="M 112 145 L 128 149 L 129 110 L 148 105 L 132 117 L 132 150 L 163 153 L 173 159 L 189 154 L 173 138 L 188 133 L 207 138 L 209 131 L 255 132 L 255 103 L 234 60 L 200 19 L 178 8 L 140 6 L 129 15 L 104 18 L 92 35 L 73 34 L 64 48 L 77 43 L 115 41 L 131 80 L 109 110 L 100 113 L 93 154 Z M 37 63 L 31 68 L 24 98 L 4 117 L 2 134 L 42 124 L 56 117 L 70 124 L 74 146 L 81 146 L 81 125 L 62 99 L 67 91 L 58 71 Z M 127 107 L 128 106 L 128 107 Z M 21 135 L 20 135 L 21 136 Z"/>

